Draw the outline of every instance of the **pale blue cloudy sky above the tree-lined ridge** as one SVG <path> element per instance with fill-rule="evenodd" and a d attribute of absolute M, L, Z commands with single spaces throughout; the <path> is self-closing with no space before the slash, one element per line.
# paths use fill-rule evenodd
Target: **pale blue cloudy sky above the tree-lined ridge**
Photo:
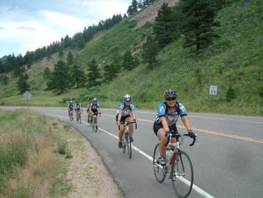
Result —
<path fill-rule="evenodd" d="M 132 0 L 0 0 L 0 58 L 60 41 L 126 13 Z"/>

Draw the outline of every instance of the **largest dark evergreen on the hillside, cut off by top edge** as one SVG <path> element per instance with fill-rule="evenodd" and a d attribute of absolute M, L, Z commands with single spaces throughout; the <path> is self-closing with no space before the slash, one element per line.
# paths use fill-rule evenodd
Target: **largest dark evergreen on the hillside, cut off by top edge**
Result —
<path fill-rule="evenodd" d="M 184 20 L 182 23 L 182 34 L 184 34 L 184 48 L 196 46 L 196 52 L 205 48 L 219 37 L 215 34 L 213 26 L 218 26 L 215 22 L 216 9 L 211 0 L 181 0 L 178 6 L 182 8 Z"/>

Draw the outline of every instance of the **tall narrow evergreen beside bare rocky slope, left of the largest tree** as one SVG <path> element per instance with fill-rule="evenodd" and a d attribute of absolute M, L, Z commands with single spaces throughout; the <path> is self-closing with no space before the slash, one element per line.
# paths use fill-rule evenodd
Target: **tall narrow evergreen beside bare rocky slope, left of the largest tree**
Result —
<path fill-rule="evenodd" d="M 164 48 L 173 41 L 172 22 L 172 8 L 168 7 L 167 3 L 163 3 L 158 11 L 153 27 L 154 34 L 156 35 L 155 40 L 158 41 L 159 48 Z"/>

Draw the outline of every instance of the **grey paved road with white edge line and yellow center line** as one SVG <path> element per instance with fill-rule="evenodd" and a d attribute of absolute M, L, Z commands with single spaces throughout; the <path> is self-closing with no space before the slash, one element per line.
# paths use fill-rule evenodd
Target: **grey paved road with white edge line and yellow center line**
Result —
<path fill-rule="evenodd" d="M 3 107 L 4 108 L 4 107 Z M 137 130 L 133 136 L 132 158 L 118 147 L 116 110 L 102 109 L 97 133 L 86 124 L 69 121 L 66 108 L 29 107 L 72 124 L 93 145 L 125 197 L 176 197 L 171 181 L 158 183 L 151 157 L 158 139 L 152 130 L 156 111 L 137 110 Z M 85 118 L 85 119 L 84 119 Z M 263 119 L 211 114 L 189 114 L 191 127 L 198 134 L 198 145 L 181 149 L 194 166 L 194 187 L 189 197 L 262 197 Z M 182 121 L 177 128 L 185 133 Z"/>

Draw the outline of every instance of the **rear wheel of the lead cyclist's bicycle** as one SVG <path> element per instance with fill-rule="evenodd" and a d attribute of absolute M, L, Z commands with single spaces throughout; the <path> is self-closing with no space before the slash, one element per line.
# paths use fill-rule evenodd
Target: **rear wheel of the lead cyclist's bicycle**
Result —
<path fill-rule="evenodd" d="M 162 183 L 166 178 L 166 166 L 159 165 L 159 143 L 154 148 L 153 166 L 154 166 L 154 176 L 159 183 Z"/>

